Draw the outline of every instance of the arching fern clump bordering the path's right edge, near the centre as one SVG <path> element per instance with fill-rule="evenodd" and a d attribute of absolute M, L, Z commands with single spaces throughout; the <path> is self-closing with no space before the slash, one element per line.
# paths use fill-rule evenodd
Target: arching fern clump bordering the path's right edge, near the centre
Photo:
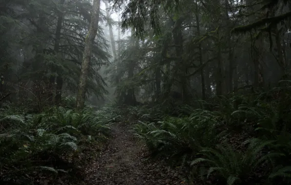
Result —
<path fill-rule="evenodd" d="M 218 132 L 212 127 L 215 117 L 198 119 L 200 114 L 198 110 L 189 117 L 166 116 L 162 121 L 151 123 L 139 121 L 133 130 L 153 154 L 166 155 L 173 162 L 182 160 L 184 165 L 186 159 L 192 159 L 201 148 L 213 147 L 218 141 Z"/>

